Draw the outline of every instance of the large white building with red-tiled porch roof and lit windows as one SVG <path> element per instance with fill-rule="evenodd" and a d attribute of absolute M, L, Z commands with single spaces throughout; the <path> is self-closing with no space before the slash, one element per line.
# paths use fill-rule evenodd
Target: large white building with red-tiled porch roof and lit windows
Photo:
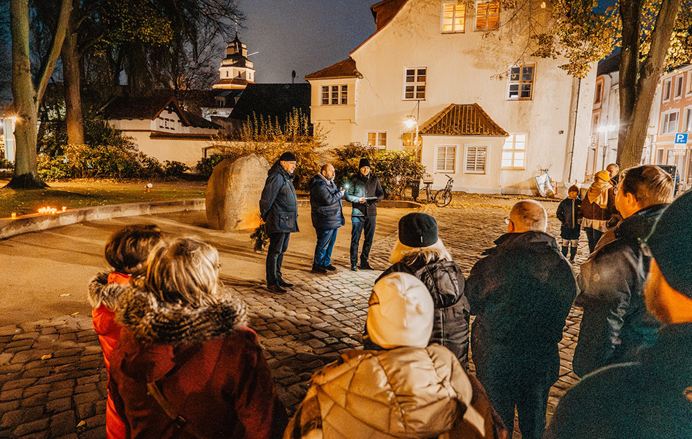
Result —
<path fill-rule="evenodd" d="M 516 65 L 525 38 L 513 43 L 513 26 L 502 26 L 511 11 L 498 1 L 465 5 L 372 6 L 374 34 L 348 59 L 307 75 L 311 121 L 331 146 L 416 151 L 435 187 L 449 174 L 455 190 L 532 194 L 540 169 L 556 181 L 581 180 L 595 71 L 580 81 L 558 68 L 565 59 Z M 546 22 L 550 11 L 538 8 L 534 19 Z"/>

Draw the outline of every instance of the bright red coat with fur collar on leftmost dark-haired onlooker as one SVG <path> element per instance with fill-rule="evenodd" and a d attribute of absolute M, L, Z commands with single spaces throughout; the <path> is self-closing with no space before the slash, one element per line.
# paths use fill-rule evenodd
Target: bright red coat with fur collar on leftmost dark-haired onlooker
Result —
<path fill-rule="evenodd" d="M 106 373 L 109 377 L 111 353 L 120 336 L 120 325 L 116 323 L 113 308 L 120 292 L 124 290 L 118 279 L 114 282 L 110 281 L 111 279 L 111 274 L 102 272 L 89 283 L 89 301 L 95 307 L 91 310 L 93 329 L 98 334 L 98 342 L 103 351 L 103 362 L 106 364 Z M 125 422 L 122 422 L 116 413 L 110 394 L 106 401 L 106 436 L 108 439 L 125 439 Z"/>

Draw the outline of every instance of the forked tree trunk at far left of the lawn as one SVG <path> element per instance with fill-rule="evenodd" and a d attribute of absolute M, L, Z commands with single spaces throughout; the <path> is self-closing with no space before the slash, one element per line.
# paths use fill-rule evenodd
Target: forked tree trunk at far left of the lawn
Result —
<path fill-rule="evenodd" d="M 17 123 L 15 124 L 15 175 L 6 187 L 37 189 L 46 187 L 39 178 L 36 166 L 37 112 L 60 55 L 65 39 L 67 22 L 72 8 L 71 0 L 62 0 L 53 46 L 44 62 L 35 87 L 31 80 L 29 56 L 29 4 L 28 0 L 10 0 L 10 35 L 12 36 L 12 98 Z"/>

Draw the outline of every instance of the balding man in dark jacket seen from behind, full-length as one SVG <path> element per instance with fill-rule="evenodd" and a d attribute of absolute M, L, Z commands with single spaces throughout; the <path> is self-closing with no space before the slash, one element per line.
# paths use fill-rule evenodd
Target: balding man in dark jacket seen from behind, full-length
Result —
<path fill-rule="evenodd" d="M 560 368 L 558 342 L 576 295 L 572 267 L 546 227 L 540 203 L 516 203 L 508 233 L 466 280 L 476 315 L 471 327 L 476 375 L 509 429 L 516 406 L 525 439 L 543 435 L 548 391 Z"/>

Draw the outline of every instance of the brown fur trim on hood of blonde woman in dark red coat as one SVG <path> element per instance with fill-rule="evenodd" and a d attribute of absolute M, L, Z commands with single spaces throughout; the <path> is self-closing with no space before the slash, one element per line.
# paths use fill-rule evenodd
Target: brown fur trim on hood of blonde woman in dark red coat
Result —
<path fill-rule="evenodd" d="M 158 301 L 152 294 L 129 287 L 118 301 L 116 321 L 138 342 L 172 346 L 206 342 L 248 326 L 245 304 L 228 291 L 219 294 L 219 304 L 191 308 Z"/>

